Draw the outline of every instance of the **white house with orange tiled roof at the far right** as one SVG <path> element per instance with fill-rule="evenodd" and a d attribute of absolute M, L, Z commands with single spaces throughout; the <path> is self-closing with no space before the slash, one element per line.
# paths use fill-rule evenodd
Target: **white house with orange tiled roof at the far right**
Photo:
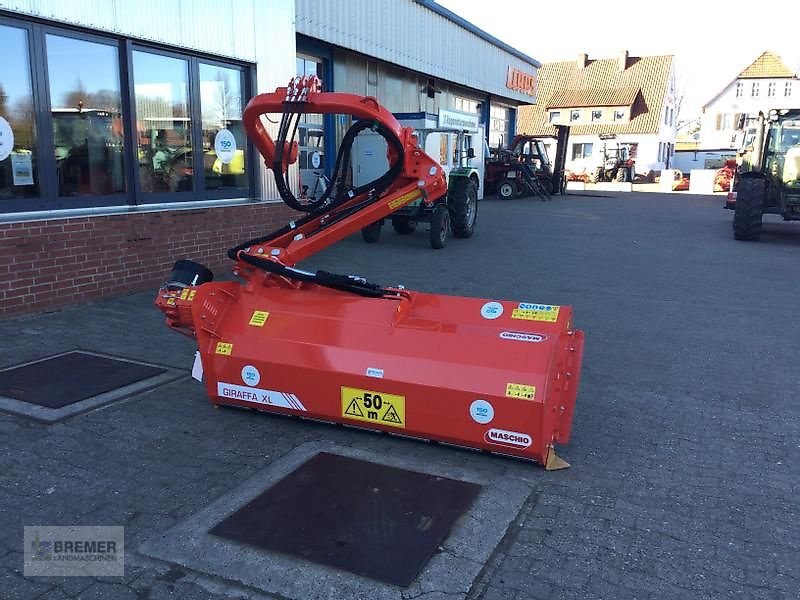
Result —
<path fill-rule="evenodd" d="M 773 52 L 763 52 L 703 106 L 700 149 L 737 149 L 743 121 L 773 108 L 800 106 L 797 73 Z"/>

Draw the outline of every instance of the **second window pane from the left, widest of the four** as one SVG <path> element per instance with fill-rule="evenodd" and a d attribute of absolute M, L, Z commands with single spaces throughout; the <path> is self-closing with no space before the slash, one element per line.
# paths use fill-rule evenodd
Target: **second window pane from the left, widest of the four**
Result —
<path fill-rule="evenodd" d="M 47 36 L 59 196 L 125 191 L 117 48 Z"/>

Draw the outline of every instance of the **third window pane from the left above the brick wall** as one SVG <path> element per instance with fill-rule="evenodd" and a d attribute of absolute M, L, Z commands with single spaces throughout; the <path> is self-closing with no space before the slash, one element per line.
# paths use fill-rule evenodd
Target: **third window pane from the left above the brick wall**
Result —
<path fill-rule="evenodd" d="M 188 61 L 135 50 L 133 93 L 142 192 L 194 190 Z"/>

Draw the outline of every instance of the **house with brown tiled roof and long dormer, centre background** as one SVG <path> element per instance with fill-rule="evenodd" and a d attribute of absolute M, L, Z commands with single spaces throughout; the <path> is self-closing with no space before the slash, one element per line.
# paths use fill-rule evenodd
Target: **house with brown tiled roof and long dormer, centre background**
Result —
<path fill-rule="evenodd" d="M 518 111 L 517 130 L 555 135 L 570 125 L 567 169 L 590 174 L 604 146 L 627 146 L 637 174 L 669 166 L 675 144 L 676 99 L 672 56 L 629 56 L 544 63 L 538 100 Z M 552 154 L 552 152 L 551 152 Z"/>

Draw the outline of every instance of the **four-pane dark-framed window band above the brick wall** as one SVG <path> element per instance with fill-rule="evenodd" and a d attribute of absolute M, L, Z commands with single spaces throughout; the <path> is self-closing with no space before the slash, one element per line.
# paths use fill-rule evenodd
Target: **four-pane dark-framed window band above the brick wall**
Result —
<path fill-rule="evenodd" d="M 250 196 L 248 67 L 2 17 L 0 47 L 0 212 Z"/>

